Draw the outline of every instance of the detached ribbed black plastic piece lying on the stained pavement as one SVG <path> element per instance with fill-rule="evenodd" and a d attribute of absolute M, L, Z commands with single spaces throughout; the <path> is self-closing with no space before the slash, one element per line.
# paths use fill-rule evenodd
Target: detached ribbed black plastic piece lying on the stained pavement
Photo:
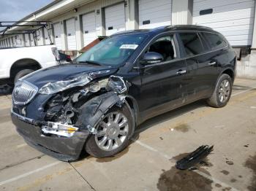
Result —
<path fill-rule="evenodd" d="M 176 162 L 176 168 L 180 170 L 187 170 L 195 164 L 200 163 L 200 161 L 202 161 L 203 158 L 209 155 L 211 151 L 213 151 L 213 149 L 214 146 L 209 147 L 208 145 L 202 145 L 198 147 L 195 151 L 191 152 L 186 157 L 178 160 Z"/>

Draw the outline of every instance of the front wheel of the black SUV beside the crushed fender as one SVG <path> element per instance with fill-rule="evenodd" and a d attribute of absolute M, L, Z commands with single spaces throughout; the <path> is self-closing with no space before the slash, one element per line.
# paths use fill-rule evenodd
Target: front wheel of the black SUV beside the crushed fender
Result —
<path fill-rule="evenodd" d="M 129 144 L 132 133 L 132 115 L 126 105 L 113 107 L 97 124 L 97 134 L 86 142 L 86 152 L 94 157 L 110 157 Z"/>

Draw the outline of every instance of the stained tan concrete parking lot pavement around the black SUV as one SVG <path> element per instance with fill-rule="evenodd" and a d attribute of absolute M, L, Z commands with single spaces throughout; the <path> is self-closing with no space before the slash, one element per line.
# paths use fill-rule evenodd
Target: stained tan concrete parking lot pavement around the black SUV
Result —
<path fill-rule="evenodd" d="M 197 101 L 144 122 L 115 157 L 64 163 L 29 147 L 0 96 L 0 190 L 256 190 L 256 80 L 236 79 L 222 109 Z M 175 168 L 202 144 L 214 151 L 194 171 Z"/>

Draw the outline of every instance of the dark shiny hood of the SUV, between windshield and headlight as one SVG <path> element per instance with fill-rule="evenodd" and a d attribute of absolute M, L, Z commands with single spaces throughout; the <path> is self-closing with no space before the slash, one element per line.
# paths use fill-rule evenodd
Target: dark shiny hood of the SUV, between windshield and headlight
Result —
<path fill-rule="evenodd" d="M 93 71 L 109 71 L 104 73 L 105 76 L 113 74 L 117 71 L 117 68 L 110 66 L 96 66 L 96 65 L 59 65 L 53 66 L 47 69 L 40 69 L 35 71 L 32 74 L 23 77 L 23 80 L 30 82 L 33 85 L 36 85 L 38 88 L 41 88 L 43 85 L 48 82 L 57 82 L 61 80 L 67 80 L 70 77 L 75 77 L 78 74 L 89 74 Z M 102 77 L 102 75 L 101 75 Z"/>

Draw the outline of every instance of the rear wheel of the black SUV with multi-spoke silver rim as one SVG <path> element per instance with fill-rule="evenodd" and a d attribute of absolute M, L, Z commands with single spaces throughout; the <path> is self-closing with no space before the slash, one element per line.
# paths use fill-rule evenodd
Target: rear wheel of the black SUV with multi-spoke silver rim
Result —
<path fill-rule="evenodd" d="M 217 108 L 227 105 L 232 93 L 232 85 L 233 82 L 230 76 L 222 74 L 218 79 L 214 93 L 211 95 L 211 98 L 207 100 L 208 105 Z"/>

